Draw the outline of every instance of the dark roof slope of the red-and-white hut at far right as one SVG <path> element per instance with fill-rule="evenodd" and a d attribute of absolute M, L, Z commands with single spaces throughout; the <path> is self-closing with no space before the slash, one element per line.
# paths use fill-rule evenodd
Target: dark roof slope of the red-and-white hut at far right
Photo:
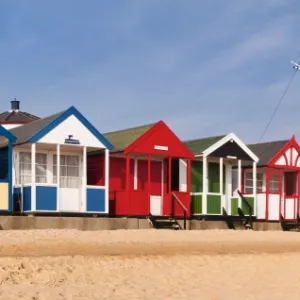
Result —
<path fill-rule="evenodd" d="M 266 166 L 268 162 L 288 143 L 289 140 L 273 141 L 259 144 L 247 145 L 249 149 L 254 152 L 258 158 L 258 166 Z"/>

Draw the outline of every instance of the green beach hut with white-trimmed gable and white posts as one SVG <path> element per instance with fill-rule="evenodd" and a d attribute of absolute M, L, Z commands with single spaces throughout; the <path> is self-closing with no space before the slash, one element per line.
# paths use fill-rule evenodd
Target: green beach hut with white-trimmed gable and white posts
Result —
<path fill-rule="evenodd" d="M 238 215 L 247 213 L 238 191 L 242 190 L 242 161 L 250 162 L 256 178 L 258 157 L 234 134 L 186 141 L 196 160 L 191 168 L 192 215 Z M 236 169 L 235 169 L 236 167 Z M 254 180 L 256 182 L 256 180 Z M 245 197 L 256 213 L 256 189 Z"/>

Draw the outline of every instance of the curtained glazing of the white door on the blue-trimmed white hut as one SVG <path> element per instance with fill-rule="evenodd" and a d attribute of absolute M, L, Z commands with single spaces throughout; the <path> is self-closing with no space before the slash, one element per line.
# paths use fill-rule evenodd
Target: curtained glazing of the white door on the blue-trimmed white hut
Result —
<path fill-rule="evenodd" d="M 57 156 L 53 155 L 53 182 L 57 183 Z M 79 156 L 60 156 L 60 187 L 79 187 Z"/>

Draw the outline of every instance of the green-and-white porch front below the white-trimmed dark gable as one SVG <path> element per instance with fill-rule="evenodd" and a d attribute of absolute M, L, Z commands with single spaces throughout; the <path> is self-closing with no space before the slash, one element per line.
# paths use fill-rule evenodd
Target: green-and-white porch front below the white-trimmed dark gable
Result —
<path fill-rule="evenodd" d="M 237 170 L 234 169 L 236 164 Z M 255 177 L 255 163 L 253 163 L 253 177 Z M 221 157 L 217 162 L 217 159 L 212 157 L 192 162 L 192 214 L 221 216 L 224 208 L 227 214 L 238 215 L 240 208 L 247 215 L 248 208 L 238 195 L 238 191 L 242 190 L 241 179 L 241 160 Z M 245 199 L 252 206 L 255 215 L 256 193 L 245 195 Z"/>

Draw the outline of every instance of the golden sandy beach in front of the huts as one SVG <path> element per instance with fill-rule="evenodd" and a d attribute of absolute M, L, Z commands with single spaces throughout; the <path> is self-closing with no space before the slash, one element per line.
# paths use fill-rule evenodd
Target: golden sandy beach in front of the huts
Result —
<path fill-rule="evenodd" d="M 0 299 L 300 299 L 300 234 L 0 231 Z"/>

